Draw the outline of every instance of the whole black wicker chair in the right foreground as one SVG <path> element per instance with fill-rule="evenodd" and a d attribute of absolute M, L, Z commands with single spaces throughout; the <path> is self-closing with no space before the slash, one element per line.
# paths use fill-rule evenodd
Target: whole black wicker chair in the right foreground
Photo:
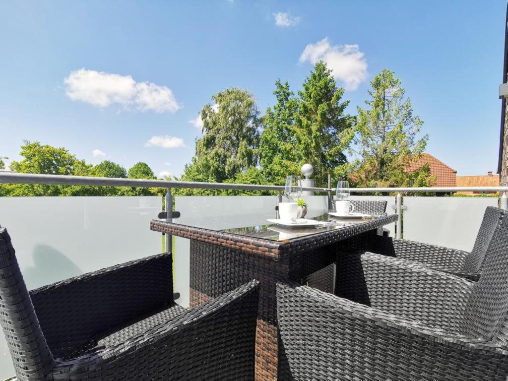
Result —
<path fill-rule="evenodd" d="M 361 257 L 370 305 L 277 285 L 280 379 L 506 380 L 508 221 L 477 282 Z"/>

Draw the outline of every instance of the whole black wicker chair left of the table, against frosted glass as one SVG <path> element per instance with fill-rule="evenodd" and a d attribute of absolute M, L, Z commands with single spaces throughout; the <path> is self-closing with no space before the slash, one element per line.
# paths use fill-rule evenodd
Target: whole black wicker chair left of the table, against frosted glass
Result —
<path fill-rule="evenodd" d="M 259 282 L 186 311 L 163 253 L 28 292 L 0 228 L 0 324 L 18 381 L 252 379 Z"/>

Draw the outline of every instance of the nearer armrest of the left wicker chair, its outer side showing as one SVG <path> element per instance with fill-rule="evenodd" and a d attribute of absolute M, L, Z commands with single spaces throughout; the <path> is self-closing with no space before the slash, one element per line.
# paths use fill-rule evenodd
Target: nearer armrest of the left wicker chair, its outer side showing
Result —
<path fill-rule="evenodd" d="M 100 379 L 117 369 L 136 379 L 253 379 L 259 288 L 251 280 L 122 343 L 62 362 L 52 376 Z"/>

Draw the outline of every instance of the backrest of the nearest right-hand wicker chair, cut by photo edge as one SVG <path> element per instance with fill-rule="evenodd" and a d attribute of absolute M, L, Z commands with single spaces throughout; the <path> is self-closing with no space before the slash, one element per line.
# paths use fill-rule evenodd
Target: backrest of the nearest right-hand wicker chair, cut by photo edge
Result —
<path fill-rule="evenodd" d="M 482 276 L 474 283 L 464 311 L 461 333 L 469 337 L 503 340 L 508 313 L 508 212 L 499 210 L 501 218 L 487 248 Z"/>

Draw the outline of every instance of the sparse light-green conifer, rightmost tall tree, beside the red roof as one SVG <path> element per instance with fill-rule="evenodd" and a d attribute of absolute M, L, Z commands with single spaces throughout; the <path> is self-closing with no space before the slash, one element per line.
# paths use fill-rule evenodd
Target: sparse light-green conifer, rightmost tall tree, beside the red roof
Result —
<path fill-rule="evenodd" d="M 425 166 L 414 173 L 404 172 L 424 151 L 428 135 L 417 140 L 423 122 L 413 115 L 400 79 L 384 69 L 370 84 L 372 99 L 365 101 L 368 108 L 358 107 L 355 127 L 361 158 L 356 162 L 356 182 L 369 187 L 429 185 L 432 179 Z"/>

